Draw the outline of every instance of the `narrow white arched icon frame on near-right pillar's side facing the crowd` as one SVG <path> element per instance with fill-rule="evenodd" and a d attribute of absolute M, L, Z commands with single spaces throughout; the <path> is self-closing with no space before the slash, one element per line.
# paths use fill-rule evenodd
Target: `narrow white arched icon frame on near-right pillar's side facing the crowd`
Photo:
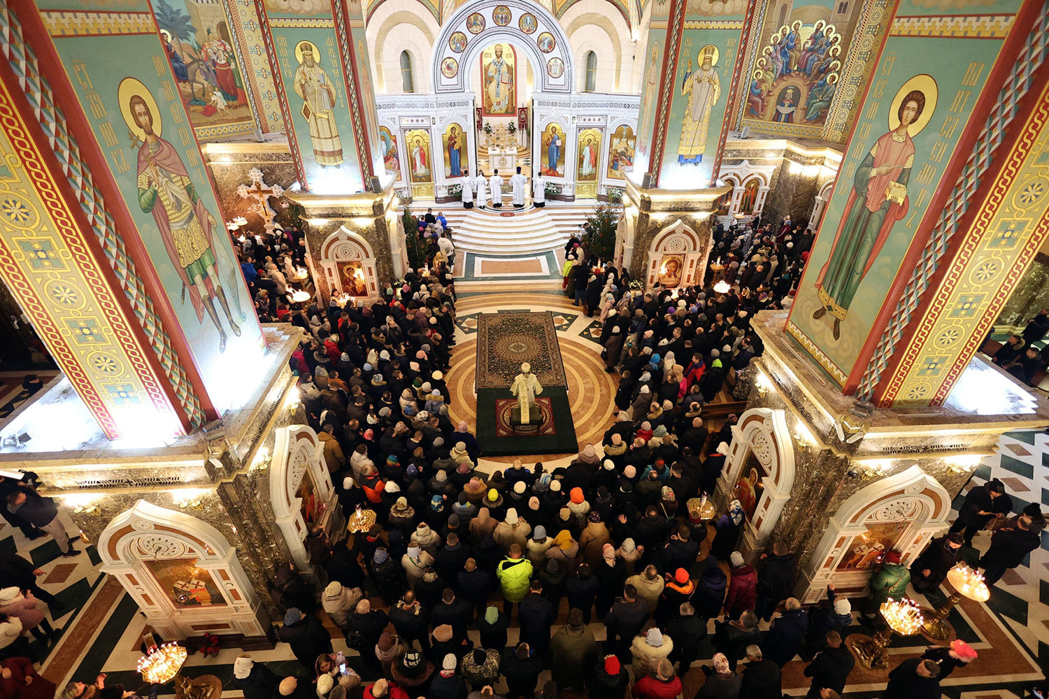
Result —
<path fill-rule="evenodd" d="M 740 545 L 748 560 L 765 549 L 794 485 L 794 446 L 784 411 L 751 408 L 732 427 L 732 443 L 718 479 L 718 501 L 723 505 L 735 497 L 735 485 L 745 476 L 751 455 L 764 474 L 758 474 L 763 490 L 744 524 Z"/>

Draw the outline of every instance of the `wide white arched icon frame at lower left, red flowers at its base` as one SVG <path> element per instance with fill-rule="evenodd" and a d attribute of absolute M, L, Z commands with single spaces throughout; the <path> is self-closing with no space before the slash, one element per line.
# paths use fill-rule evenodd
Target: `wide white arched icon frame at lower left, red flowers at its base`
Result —
<path fill-rule="evenodd" d="M 212 525 L 140 500 L 99 537 L 102 571 L 114 575 L 165 638 L 265 635 L 237 550 Z"/>

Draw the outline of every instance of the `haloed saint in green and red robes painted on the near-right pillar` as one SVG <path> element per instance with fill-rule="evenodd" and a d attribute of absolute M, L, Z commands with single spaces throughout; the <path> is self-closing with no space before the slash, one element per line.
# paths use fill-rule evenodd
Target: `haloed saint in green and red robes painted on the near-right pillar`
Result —
<path fill-rule="evenodd" d="M 915 87 L 923 89 L 911 89 Z M 874 141 L 856 169 L 831 256 L 815 282 L 820 307 L 812 318 L 818 320 L 830 311 L 834 340 L 840 337 L 841 321 L 893 225 L 907 214 L 907 183 L 915 159 L 912 137 L 932 118 L 935 106 L 936 82 L 932 77 L 907 81 L 893 102 L 889 133 Z"/>

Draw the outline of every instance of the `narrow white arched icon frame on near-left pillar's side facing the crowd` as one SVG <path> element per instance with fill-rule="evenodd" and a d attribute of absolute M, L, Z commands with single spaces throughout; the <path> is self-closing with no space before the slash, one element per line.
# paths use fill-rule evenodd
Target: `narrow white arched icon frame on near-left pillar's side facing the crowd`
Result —
<path fill-rule="evenodd" d="M 295 567 L 323 585 L 324 571 L 314 570 L 303 539 L 312 526 L 320 525 L 337 541 L 346 524 L 324 461 L 324 444 L 309 425 L 292 424 L 276 431 L 273 454 L 270 499 L 274 521 L 287 542 Z"/>

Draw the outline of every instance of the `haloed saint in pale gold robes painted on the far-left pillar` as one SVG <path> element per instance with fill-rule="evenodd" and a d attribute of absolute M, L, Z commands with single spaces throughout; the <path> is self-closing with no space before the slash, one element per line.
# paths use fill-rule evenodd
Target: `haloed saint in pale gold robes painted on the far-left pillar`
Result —
<path fill-rule="evenodd" d="M 302 97 L 302 115 L 309 123 L 309 140 L 314 158 L 322 168 L 341 166 L 342 141 L 335 124 L 335 104 L 338 97 L 331 79 L 320 66 L 321 53 L 308 42 L 295 47 L 299 68 L 295 71 L 295 93 Z"/>

